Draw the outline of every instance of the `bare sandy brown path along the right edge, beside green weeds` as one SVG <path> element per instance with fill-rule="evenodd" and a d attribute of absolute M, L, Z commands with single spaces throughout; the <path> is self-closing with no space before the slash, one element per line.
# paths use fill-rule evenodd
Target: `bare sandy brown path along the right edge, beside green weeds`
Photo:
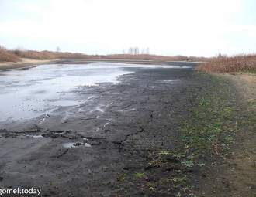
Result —
<path fill-rule="evenodd" d="M 214 73 L 214 76 L 228 80 L 236 103 L 237 130 L 230 150 L 231 155 L 224 155 L 223 165 L 216 168 L 219 173 L 213 174 L 213 193 L 205 196 L 227 196 L 225 190 L 217 182 L 223 182 L 229 196 L 256 195 L 256 75 L 254 73 Z M 232 99 L 232 98 L 230 98 Z M 222 155 L 223 156 L 223 155 Z M 221 170 L 220 170 L 221 169 Z M 209 187 L 209 182 L 206 182 Z M 218 193 L 218 191 L 220 193 Z"/>

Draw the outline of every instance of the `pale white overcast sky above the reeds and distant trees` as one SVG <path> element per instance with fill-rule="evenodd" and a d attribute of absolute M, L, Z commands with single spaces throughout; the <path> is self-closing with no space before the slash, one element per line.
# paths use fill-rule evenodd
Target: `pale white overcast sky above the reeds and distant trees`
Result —
<path fill-rule="evenodd" d="M 87 54 L 256 53 L 254 0 L 0 0 L 0 45 Z"/>

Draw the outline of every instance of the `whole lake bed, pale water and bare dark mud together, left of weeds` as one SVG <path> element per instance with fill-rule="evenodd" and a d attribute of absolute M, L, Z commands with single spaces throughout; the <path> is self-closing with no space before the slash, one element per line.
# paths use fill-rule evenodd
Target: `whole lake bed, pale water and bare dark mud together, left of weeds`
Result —
<path fill-rule="evenodd" d="M 180 105 L 193 66 L 71 60 L 2 71 L 2 188 L 40 188 L 44 196 L 111 195 L 103 182 L 116 180 L 128 162 L 119 143 L 168 124 L 157 113 L 168 103 Z M 159 125 L 152 126 L 155 121 Z"/>

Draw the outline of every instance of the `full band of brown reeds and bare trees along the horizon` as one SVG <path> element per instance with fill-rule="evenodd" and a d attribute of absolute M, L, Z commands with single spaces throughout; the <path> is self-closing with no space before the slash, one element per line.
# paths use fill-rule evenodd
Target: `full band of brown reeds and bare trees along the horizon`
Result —
<path fill-rule="evenodd" d="M 193 61 L 202 62 L 196 67 L 196 70 L 203 70 L 206 72 L 237 72 L 246 71 L 256 73 L 256 54 L 240 54 L 237 56 L 226 56 L 219 54 L 216 57 L 205 58 L 198 56 L 157 56 L 149 54 L 149 49 L 140 49 L 137 47 L 130 48 L 129 54 L 113 54 L 113 55 L 86 55 L 83 53 L 68 53 L 61 52 L 57 47 L 57 51 L 34 51 L 22 48 L 6 49 L 0 46 L 0 62 L 21 62 L 22 58 L 28 59 L 137 59 L 137 60 L 152 60 L 152 61 Z"/>

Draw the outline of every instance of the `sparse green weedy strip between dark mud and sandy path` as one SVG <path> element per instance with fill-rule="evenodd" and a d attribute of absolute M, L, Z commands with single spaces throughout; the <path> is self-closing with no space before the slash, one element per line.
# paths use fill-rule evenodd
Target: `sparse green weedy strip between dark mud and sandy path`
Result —
<path fill-rule="evenodd" d="M 175 124 L 177 138 L 169 140 L 164 136 L 162 146 L 146 151 L 139 169 L 131 169 L 127 176 L 118 178 L 121 189 L 126 190 L 116 196 L 195 196 L 195 172 L 207 172 L 210 165 L 234 155 L 232 145 L 240 130 L 244 125 L 251 129 L 251 123 L 256 123 L 251 118 L 255 116 L 241 112 L 244 106 L 237 104 L 239 99 L 229 81 L 207 73 L 193 74 L 200 83 L 188 97 L 188 117 Z"/>

